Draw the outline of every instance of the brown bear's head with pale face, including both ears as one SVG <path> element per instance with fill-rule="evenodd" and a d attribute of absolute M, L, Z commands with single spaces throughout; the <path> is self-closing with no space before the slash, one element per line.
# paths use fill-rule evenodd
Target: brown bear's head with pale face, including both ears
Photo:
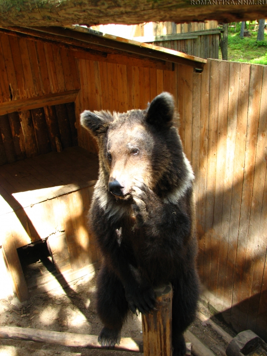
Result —
<path fill-rule="evenodd" d="M 116 199 L 129 199 L 136 180 L 159 195 L 179 184 L 184 157 L 174 117 L 173 97 L 166 92 L 146 110 L 81 114 L 83 127 L 98 140 L 100 180 Z"/>

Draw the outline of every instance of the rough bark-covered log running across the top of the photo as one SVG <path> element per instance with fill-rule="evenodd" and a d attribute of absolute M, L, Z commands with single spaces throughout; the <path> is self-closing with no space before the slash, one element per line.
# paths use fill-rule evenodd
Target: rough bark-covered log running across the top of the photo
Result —
<path fill-rule="evenodd" d="M 176 23 L 214 19 L 234 22 L 267 17 L 263 0 L 236 6 L 236 0 L 3 0 L 0 26 L 65 26 L 72 24 Z"/>

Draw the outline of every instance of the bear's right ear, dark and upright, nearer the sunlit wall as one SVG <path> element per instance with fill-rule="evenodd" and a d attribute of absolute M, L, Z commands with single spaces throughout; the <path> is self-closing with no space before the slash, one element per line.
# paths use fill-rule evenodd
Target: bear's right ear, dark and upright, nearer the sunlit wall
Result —
<path fill-rule="evenodd" d="M 146 120 L 160 130 L 171 126 L 173 115 L 173 96 L 167 92 L 163 92 L 156 96 L 148 106 Z"/>

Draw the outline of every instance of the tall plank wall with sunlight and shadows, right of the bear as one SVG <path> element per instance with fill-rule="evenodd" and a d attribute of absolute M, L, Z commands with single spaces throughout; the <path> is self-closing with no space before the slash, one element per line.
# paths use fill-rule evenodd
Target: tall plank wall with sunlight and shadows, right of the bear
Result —
<path fill-rule="evenodd" d="M 201 75 L 178 68 L 177 85 L 203 298 L 267 340 L 267 67 L 208 60 Z"/>

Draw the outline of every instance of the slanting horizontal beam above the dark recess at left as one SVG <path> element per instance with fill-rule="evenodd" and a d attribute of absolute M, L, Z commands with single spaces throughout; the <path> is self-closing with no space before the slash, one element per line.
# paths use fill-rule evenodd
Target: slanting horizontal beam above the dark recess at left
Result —
<path fill-rule="evenodd" d="M 14 111 L 37 109 L 46 105 L 51 106 L 74 102 L 79 90 L 80 89 L 65 91 L 63 93 L 47 94 L 35 98 L 14 100 L 12 102 L 1 102 L 0 115 L 13 113 Z"/>

